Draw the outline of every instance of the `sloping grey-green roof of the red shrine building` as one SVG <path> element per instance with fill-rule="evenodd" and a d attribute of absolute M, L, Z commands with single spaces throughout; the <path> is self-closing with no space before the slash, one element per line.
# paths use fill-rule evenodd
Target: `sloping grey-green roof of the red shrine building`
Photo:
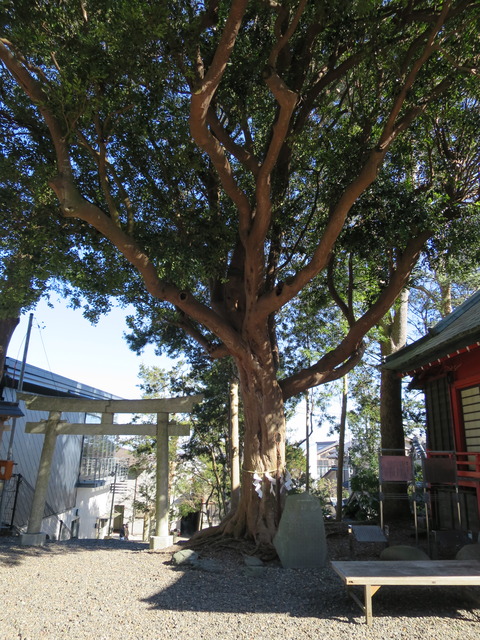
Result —
<path fill-rule="evenodd" d="M 477 291 L 423 338 L 388 356 L 383 366 L 406 373 L 479 343 L 480 291 Z"/>

